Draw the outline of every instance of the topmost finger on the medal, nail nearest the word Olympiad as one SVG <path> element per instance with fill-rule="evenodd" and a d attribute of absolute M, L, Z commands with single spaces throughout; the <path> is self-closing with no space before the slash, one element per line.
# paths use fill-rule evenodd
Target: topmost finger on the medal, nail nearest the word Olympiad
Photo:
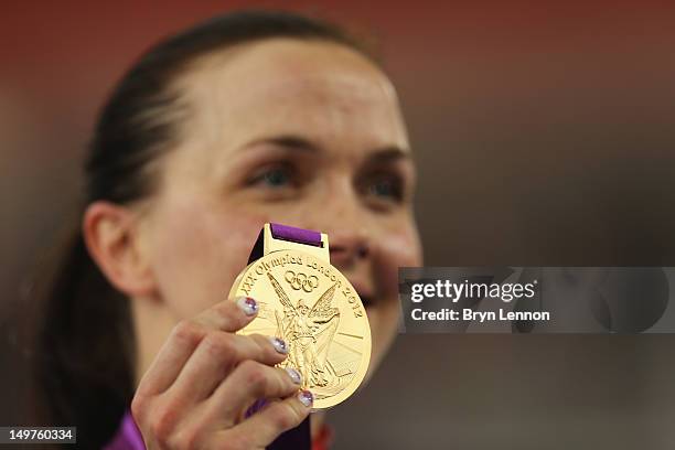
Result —
<path fill-rule="evenodd" d="M 137 393 L 157 395 L 167 390 L 210 331 L 236 331 L 254 320 L 257 311 L 257 302 L 251 298 L 229 299 L 194 319 L 179 322 L 141 378 Z"/>

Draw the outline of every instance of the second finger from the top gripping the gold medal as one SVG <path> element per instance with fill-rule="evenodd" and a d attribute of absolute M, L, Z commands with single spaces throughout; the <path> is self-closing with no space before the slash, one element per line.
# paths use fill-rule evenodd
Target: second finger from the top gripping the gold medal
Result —
<path fill-rule="evenodd" d="M 168 393 L 189 401 L 208 397 L 243 361 L 274 366 L 287 356 L 287 346 L 278 338 L 247 336 L 222 331 L 208 333 L 194 351 Z"/>

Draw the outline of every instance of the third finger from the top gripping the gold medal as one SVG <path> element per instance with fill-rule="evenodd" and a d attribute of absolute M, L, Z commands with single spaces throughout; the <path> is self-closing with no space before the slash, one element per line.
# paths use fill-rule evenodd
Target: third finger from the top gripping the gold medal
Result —
<path fill-rule="evenodd" d="M 288 397 L 298 390 L 301 382 L 299 373 L 292 368 L 282 369 L 251 360 L 244 361 L 207 400 L 208 420 L 229 428 L 244 417 L 256 400 Z"/>

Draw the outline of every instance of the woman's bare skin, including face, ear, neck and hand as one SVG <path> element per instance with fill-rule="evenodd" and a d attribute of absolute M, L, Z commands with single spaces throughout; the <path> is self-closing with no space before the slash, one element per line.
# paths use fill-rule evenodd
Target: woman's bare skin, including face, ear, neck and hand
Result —
<path fill-rule="evenodd" d="M 396 335 L 397 269 L 422 264 L 410 146 L 386 75 L 328 42 L 219 51 L 173 88 L 186 109 L 178 144 L 156 163 L 157 192 L 133 206 L 92 204 L 85 237 L 133 300 L 132 413 L 149 446 L 262 448 L 308 408 L 290 377 L 269 367 L 285 355 L 264 336 L 232 334 L 253 318 L 223 296 L 264 223 L 328 233 L 331 262 L 366 302 L 367 379 Z M 217 398 L 238 390 L 247 393 L 242 405 Z M 260 396 L 286 399 L 242 420 Z"/>

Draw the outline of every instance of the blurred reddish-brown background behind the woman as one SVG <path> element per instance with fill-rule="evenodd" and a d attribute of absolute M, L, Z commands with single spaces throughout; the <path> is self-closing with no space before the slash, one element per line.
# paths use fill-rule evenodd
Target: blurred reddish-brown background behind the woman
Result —
<path fill-rule="evenodd" d="M 0 13 L 0 324 L 74 208 L 97 108 L 214 13 L 318 14 L 381 43 L 428 266 L 675 266 L 672 2 L 14 2 Z M 649 300 L 645 300 L 649 301 Z M 25 398 L 0 339 L 0 424 Z M 338 449 L 675 448 L 673 335 L 400 335 L 331 411 Z"/>

